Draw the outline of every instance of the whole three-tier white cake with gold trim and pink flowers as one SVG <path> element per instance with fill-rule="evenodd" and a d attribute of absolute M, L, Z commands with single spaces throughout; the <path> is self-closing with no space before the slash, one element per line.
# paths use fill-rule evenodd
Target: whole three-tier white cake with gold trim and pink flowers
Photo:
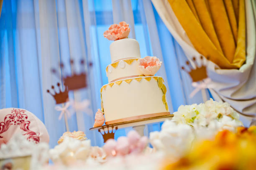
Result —
<path fill-rule="evenodd" d="M 112 63 L 107 66 L 108 84 L 100 89 L 106 124 L 169 114 L 163 78 L 154 76 L 161 66 L 156 57 L 141 58 L 138 41 L 127 38 L 128 24 L 111 25 L 104 36 Z M 122 39 L 123 38 L 123 39 Z"/>

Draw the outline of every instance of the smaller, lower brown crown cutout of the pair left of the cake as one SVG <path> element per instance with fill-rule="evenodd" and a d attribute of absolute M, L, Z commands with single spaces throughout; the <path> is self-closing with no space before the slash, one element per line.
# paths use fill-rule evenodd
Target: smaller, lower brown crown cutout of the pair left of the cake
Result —
<path fill-rule="evenodd" d="M 53 89 L 54 94 L 51 93 L 49 89 L 47 89 L 47 93 L 51 94 L 54 97 L 56 104 L 65 103 L 69 99 L 69 91 L 67 89 L 67 86 L 65 86 L 64 91 L 61 91 L 61 87 L 59 83 L 57 83 L 57 86 L 59 87 L 59 93 L 56 92 L 56 90 L 54 89 L 54 86 L 51 86 L 51 89 Z"/>

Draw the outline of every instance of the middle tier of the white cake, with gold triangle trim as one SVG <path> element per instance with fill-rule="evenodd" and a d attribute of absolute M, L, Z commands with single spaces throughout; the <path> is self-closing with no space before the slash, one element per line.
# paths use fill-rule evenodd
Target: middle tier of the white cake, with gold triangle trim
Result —
<path fill-rule="evenodd" d="M 130 58 L 116 61 L 107 66 L 106 74 L 108 82 L 117 81 L 129 77 L 137 77 L 143 73 L 138 66 L 138 58 Z"/>

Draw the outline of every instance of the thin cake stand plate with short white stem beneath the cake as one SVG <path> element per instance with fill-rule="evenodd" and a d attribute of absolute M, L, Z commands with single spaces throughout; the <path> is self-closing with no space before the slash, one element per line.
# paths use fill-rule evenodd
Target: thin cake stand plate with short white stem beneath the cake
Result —
<path fill-rule="evenodd" d="M 144 128 L 146 124 L 156 124 L 158 122 L 164 122 L 167 119 L 172 119 L 173 114 L 156 116 L 156 117 L 147 117 L 143 119 L 107 124 L 100 127 L 92 127 L 90 130 L 102 130 L 102 131 L 109 131 L 109 127 L 112 129 L 122 129 L 126 127 L 133 127 L 141 136 L 144 136 Z M 103 136 L 104 138 L 104 136 Z"/>

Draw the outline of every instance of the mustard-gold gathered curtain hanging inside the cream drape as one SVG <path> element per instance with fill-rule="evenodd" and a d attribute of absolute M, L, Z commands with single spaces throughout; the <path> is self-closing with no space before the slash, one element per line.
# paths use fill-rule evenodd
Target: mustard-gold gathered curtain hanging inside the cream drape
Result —
<path fill-rule="evenodd" d="M 195 49 L 222 69 L 246 60 L 244 0 L 168 0 Z"/>

